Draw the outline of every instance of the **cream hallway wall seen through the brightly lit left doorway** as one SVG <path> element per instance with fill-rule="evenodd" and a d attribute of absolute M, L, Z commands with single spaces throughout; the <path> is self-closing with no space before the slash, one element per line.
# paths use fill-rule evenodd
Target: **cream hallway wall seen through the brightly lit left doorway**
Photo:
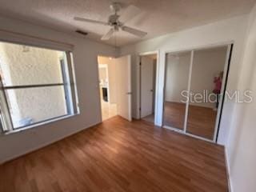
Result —
<path fill-rule="evenodd" d="M 98 64 L 106 64 L 109 75 L 110 103 L 117 102 L 116 62 L 114 58 L 98 57 Z"/>

